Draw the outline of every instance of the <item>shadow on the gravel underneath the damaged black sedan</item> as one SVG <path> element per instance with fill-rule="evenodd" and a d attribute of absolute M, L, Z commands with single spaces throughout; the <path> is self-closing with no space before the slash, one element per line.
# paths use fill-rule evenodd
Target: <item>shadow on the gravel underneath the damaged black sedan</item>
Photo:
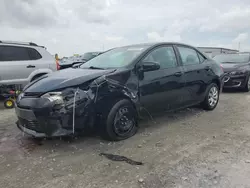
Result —
<path fill-rule="evenodd" d="M 183 119 L 188 119 L 194 115 L 203 113 L 204 110 L 198 107 L 186 108 L 183 110 L 173 111 L 173 112 L 161 112 L 154 115 L 148 114 L 147 117 L 140 120 L 139 131 L 134 136 L 140 136 L 141 134 L 148 134 L 148 132 L 153 133 L 157 129 L 163 126 L 168 126 L 175 122 L 183 122 Z M 25 152 L 32 152 L 35 150 L 46 150 L 49 151 L 89 151 L 94 150 L 97 152 L 107 151 L 109 149 L 119 149 L 125 142 L 130 142 L 130 139 L 110 142 L 103 140 L 96 133 L 84 134 L 81 136 L 68 136 L 68 137 L 56 137 L 56 138 L 46 138 L 46 139 L 34 139 L 30 136 L 19 134 L 16 137 L 20 148 L 23 148 Z M 131 139 L 132 140 L 132 139 Z M 21 144 L 20 144 L 21 143 Z"/>

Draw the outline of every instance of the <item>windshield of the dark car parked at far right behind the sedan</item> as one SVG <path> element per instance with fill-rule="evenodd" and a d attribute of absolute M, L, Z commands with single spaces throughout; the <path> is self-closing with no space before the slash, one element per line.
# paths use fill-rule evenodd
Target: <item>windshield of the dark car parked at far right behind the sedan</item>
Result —
<path fill-rule="evenodd" d="M 247 63 L 249 59 L 249 54 L 223 54 L 214 57 L 218 63 Z"/>

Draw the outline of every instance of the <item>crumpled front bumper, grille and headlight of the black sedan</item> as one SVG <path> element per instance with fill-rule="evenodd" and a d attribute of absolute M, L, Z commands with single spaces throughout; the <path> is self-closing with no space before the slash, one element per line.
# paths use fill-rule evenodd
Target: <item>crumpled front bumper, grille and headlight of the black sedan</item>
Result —
<path fill-rule="evenodd" d="M 24 92 L 17 100 L 17 126 L 35 137 L 74 134 L 91 123 L 93 101 L 92 93 L 80 88 L 67 88 L 42 96 L 29 96 Z"/>

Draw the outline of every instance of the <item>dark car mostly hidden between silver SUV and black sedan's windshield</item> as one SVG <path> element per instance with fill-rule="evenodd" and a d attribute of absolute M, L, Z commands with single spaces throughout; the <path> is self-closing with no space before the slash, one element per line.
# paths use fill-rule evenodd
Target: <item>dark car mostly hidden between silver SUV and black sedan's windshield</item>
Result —
<path fill-rule="evenodd" d="M 86 52 L 82 56 L 72 56 L 59 61 L 60 69 L 66 69 L 69 67 L 78 67 L 79 65 L 93 59 L 100 55 L 102 52 Z"/>

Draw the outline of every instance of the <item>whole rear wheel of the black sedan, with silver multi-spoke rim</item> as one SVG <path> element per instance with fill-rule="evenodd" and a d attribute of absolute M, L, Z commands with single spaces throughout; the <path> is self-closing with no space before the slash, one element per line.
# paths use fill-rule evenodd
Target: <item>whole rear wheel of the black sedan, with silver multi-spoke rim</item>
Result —
<path fill-rule="evenodd" d="M 205 100 L 202 103 L 202 107 L 205 110 L 213 110 L 219 102 L 219 88 L 218 85 L 212 83 L 208 86 Z"/>

